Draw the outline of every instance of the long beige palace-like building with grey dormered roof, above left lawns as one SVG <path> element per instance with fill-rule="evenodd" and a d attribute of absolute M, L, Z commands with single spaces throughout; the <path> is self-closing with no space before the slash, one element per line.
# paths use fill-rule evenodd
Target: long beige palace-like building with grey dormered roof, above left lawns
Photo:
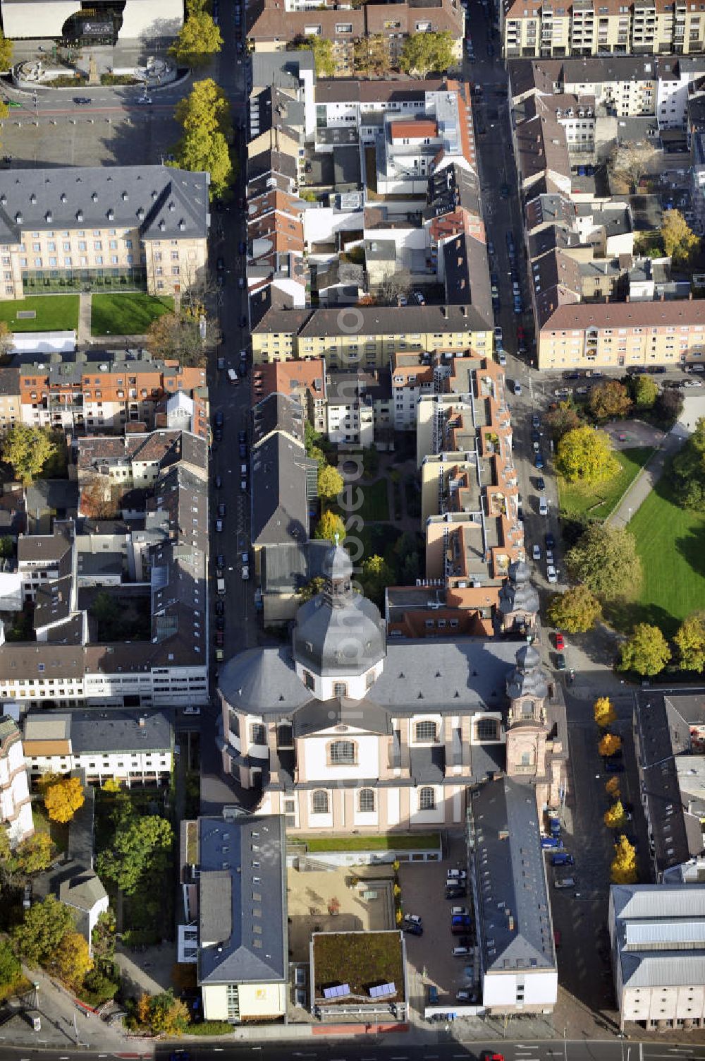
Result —
<path fill-rule="evenodd" d="M 166 166 L 13 170 L 0 192 L 0 299 L 99 281 L 188 288 L 206 271 L 208 182 Z"/>

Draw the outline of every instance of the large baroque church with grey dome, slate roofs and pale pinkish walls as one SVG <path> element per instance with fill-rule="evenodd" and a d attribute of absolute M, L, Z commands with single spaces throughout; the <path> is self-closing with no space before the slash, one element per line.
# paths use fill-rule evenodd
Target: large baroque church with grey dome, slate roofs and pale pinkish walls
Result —
<path fill-rule="evenodd" d="M 333 546 L 292 654 L 249 650 L 221 668 L 223 768 L 247 805 L 285 814 L 295 833 L 451 828 L 465 820 L 468 785 L 505 762 L 532 779 L 540 806 L 556 805 L 564 708 L 537 653 L 503 639 L 387 639 L 351 579 Z"/>

